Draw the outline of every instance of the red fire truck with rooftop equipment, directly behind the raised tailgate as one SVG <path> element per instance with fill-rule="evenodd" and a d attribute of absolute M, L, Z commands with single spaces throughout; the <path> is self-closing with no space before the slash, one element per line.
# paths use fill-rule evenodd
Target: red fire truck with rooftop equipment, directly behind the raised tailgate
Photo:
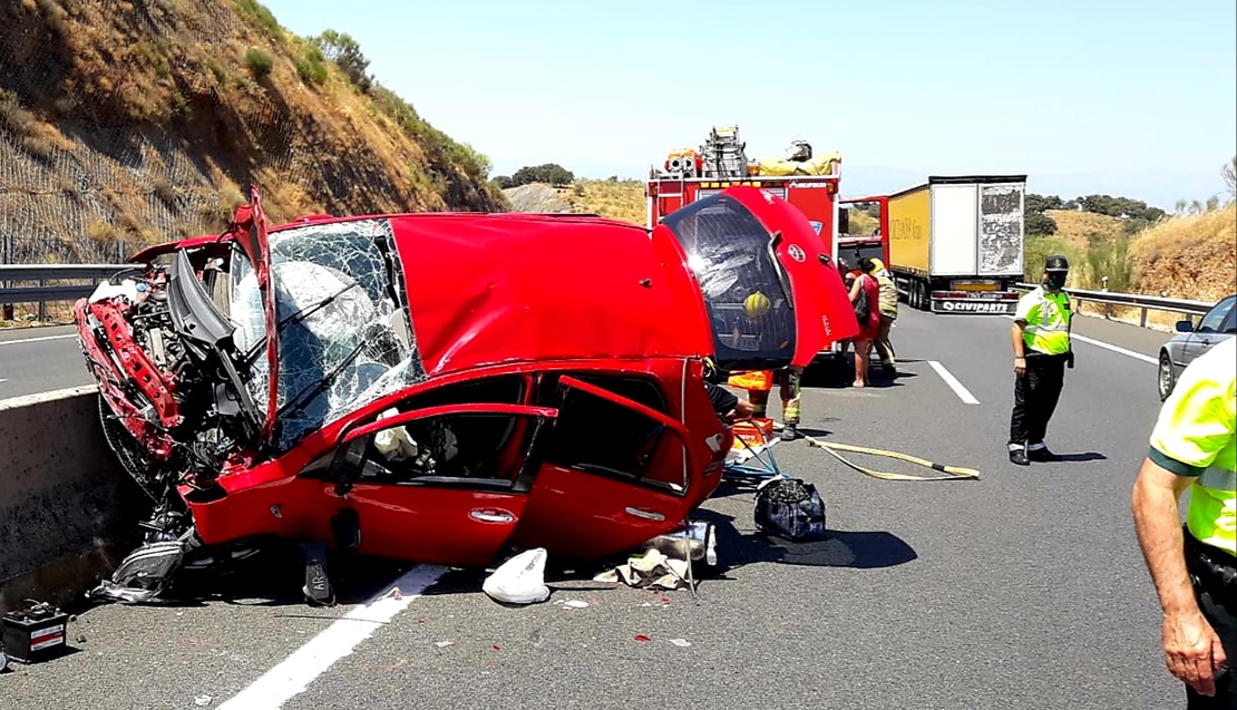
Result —
<path fill-rule="evenodd" d="M 784 158 L 750 160 L 746 143 L 738 140 L 738 126 L 715 126 L 699 148 L 670 151 L 666 162 L 649 169 L 644 189 L 647 198 L 648 228 L 656 226 L 666 215 L 701 198 L 716 194 L 731 186 L 752 186 L 768 190 L 799 209 L 825 244 L 825 254 L 842 259 L 849 268 L 856 267 L 858 257 L 854 247 L 870 249 L 876 245 L 887 256 L 882 245 L 887 237 L 867 235 L 844 237 L 839 230 L 839 197 L 841 183 L 841 156 L 825 153 L 814 157 L 805 141 L 793 141 Z M 883 234 L 883 231 L 882 231 Z M 862 256 L 871 256 L 862 254 Z M 821 356 L 841 353 L 841 344 L 834 343 Z"/>

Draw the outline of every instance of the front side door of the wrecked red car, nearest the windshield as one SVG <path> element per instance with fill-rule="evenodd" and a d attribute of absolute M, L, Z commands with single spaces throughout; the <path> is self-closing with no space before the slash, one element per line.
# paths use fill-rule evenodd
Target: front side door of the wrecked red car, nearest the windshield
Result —
<path fill-rule="evenodd" d="M 524 455 L 554 409 L 447 404 L 350 432 L 323 494 L 359 518 L 359 552 L 484 567 L 516 529 L 532 475 Z"/>

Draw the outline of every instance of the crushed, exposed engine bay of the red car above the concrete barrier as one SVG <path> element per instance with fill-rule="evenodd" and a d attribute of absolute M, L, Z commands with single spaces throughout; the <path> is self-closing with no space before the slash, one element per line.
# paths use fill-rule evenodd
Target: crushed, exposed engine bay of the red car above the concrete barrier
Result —
<path fill-rule="evenodd" d="M 199 271 L 178 252 L 168 265 L 101 284 L 79 304 L 79 322 L 93 335 L 83 350 L 100 380 L 104 432 L 139 485 L 165 505 L 178 497 L 177 485 L 204 489 L 240 463 L 261 427 L 251 359 L 238 349 L 233 325 L 202 315 L 218 306 L 195 312 L 190 304 L 204 297 L 228 303 L 225 260 L 203 261 Z M 160 532 L 183 532 L 173 511 L 162 515 Z"/>

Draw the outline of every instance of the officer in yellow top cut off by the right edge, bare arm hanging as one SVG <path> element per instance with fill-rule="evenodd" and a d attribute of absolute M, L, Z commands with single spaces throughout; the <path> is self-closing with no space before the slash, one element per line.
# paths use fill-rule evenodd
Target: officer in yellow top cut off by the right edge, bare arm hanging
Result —
<path fill-rule="evenodd" d="M 1190 491 L 1183 532 L 1178 501 Z M 1186 708 L 1237 709 L 1237 338 L 1185 369 L 1152 430 L 1134 529 Z"/>

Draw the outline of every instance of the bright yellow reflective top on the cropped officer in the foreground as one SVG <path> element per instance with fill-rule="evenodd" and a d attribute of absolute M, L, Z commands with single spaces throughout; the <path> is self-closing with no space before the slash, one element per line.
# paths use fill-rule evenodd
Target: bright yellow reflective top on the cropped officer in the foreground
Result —
<path fill-rule="evenodd" d="M 1237 555 L 1237 338 L 1185 369 L 1152 430 L 1152 461 L 1190 476 L 1186 527 Z"/>

